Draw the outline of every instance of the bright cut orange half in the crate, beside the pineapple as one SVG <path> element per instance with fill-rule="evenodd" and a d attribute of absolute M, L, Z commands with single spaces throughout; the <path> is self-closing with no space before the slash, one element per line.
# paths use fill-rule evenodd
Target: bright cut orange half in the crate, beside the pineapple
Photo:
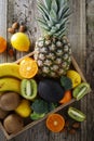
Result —
<path fill-rule="evenodd" d="M 24 78 L 32 78 L 38 73 L 38 65 L 31 57 L 25 57 L 19 63 L 19 74 Z"/>

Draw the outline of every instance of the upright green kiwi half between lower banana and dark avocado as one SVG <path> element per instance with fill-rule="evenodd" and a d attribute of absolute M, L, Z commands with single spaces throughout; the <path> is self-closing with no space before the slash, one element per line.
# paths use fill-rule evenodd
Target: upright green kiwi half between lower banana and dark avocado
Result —
<path fill-rule="evenodd" d="M 23 79 L 21 82 L 21 94 L 27 100 L 33 100 L 37 97 L 37 82 L 33 79 Z"/>

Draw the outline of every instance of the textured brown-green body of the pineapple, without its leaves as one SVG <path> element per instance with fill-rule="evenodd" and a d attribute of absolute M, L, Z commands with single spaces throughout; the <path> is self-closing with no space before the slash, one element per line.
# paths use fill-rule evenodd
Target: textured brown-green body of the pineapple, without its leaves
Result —
<path fill-rule="evenodd" d="M 63 39 L 41 37 L 36 42 L 35 51 L 40 75 L 48 77 L 66 75 L 71 62 L 71 48 L 66 37 Z"/>

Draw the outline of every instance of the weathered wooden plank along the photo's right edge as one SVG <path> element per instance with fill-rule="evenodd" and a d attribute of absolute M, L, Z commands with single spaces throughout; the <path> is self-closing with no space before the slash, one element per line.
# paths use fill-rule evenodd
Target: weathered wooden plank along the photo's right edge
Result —
<path fill-rule="evenodd" d="M 88 0 L 88 46 L 86 46 L 86 78 L 92 87 L 92 93 L 88 95 L 88 141 L 94 140 L 94 0 Z"/>

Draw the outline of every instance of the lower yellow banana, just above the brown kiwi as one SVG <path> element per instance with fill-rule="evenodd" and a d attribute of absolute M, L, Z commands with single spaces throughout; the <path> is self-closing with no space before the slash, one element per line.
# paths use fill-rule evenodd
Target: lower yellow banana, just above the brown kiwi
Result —
<path fill-rule="evenodd" d="M 0 92 L 4 91 L 21 93 L 21 80 L 12 77 L 0 78 Z"/>

